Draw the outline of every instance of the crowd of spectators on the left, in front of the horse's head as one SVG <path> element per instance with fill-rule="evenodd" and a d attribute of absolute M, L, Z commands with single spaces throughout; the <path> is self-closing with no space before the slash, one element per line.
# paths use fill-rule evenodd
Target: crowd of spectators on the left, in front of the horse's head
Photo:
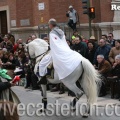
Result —
<path fill-rule="evenodd" d="M 25 52 L 25 45 L 36 38 L 36 35 L 30 35 L 26 42 L 15 38 L 12 34 L 0 35 L 0 59 L 2 60 L 2 69 L 8 70 L 8 75 L 15 76 L 16 68 L 22 69 L 21 80 L 25 88 L 39 89 L 37 86 L 37 77 L 33 69 L 34 65 L 29 64 L 29 54 Z M 34 63 L 34 62 L 32 62 Z"/>

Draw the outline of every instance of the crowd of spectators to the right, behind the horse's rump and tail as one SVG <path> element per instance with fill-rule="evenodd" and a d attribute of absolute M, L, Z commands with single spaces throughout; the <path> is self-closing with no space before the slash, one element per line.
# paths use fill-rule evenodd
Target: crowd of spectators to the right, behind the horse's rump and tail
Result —
<path fill-rule="evenodd" d="M 120 99 L 120 40 L 115 40 L 113 33 L 102 35 L 100 40 L 94 36 L 86 40 L 75 31 L 72 40 L 67 40 L 67 43 L 71 49 L 87 58 L 101 74 L 99 97 L 110 92 L 111 98 Z"/>

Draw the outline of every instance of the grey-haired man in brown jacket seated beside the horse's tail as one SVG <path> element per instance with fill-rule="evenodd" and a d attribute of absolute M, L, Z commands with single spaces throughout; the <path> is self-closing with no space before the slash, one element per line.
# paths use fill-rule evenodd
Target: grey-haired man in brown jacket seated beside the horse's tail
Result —
<path fill-rule="evenodd" d="M 99 97 L 103 97 L 106 95 L 106 78 L 108 73 L 110 73 L 111 64 L 107 60 L 105 60 L 103 55 L 98 55 L 97 61 L 98 61 L 98 72 L 102 75 L 102 80 L 103 80 Z"/>

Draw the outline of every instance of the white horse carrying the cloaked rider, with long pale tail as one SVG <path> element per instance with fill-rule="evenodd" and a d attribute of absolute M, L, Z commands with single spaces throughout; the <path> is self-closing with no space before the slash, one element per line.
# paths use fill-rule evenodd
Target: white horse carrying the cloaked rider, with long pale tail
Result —
<path fill-rule="evenodd" d="M 36 62 L 43 56 L 43 53 L 48 51 L 48 43 L 42 39 L 35 39 L 34 41 L 28 44 L 28 51 L 31 58 L 36 58 Z M 63 66 L 64 67 L 64 66 Z M 35 70 L 37 71 L 37 69 Z M 41 78 L 39 77 L 39 80 Z M 88 117 L 90 112 L 90 105 L 97 101 L 97 84 L 101 82 L 99 73 L 95 70 L 93 65 L 85 58 L 83 58 L 82 62 L 79 66 L 74 70 L 72 74 L 67 76 L 63 80 L 59 80 L 56 71 L 54 71 L 54 80 L 47 79 L 50 83 L 60 83 L 62 82 L 68 89 L 73 91 L 76 95 L 76 98 L 73 99 L 71 106 L 75 107 L 76 102 L 83 95 L 83 91 L 87 96 L 88 100 L 88 109 L 86 113 L 83 115 L 84 117 Z M 83 91 L 80 90 L 76 86 L 76 82 L 79 81 Z M 42 102 L 44 103 L 44 108 L 47 106 L 47 94 L 46 94 L 46 85 L 41 85 L 43 92 Z"/>

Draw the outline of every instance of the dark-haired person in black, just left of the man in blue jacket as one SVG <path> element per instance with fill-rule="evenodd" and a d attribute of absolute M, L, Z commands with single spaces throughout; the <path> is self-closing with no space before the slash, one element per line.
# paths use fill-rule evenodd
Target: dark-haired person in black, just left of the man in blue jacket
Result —
<path fill-rule="evenodd" d="M 95 55 L 94 43 L 93 42 L 88 42 L 87 46 L 88 46 L 88 49 L 87 49 L 86 58 L 93 64 L 94 55 Z"/>

